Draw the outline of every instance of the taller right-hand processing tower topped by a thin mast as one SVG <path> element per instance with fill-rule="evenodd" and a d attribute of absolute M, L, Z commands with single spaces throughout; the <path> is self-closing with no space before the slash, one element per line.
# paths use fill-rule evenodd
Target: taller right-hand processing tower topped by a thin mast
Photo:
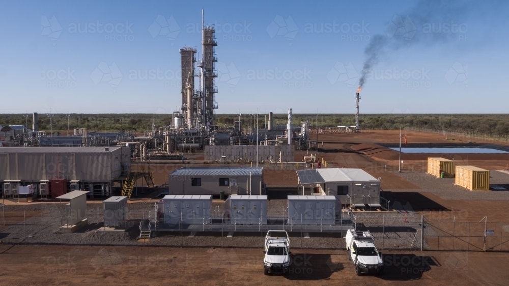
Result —
<path fill-rule="evenodd" d="M 199 67 L 201 71 L 201 90 L 203 98 L 203 123 L 207 130 L 214 121 L 214 109 L 217 109 L 217 102 L 215 101 L 215 94 L 217 88 L 214 84 L 214 78 L 217 73 L 214 69 L 214 62 L 217 62 L 217 55 L 214 53 L 214 47 L 217 46 L 217 39 L 215 38 L 215 28 L 205 26 L 202 10 L 202 61 Z"/>

